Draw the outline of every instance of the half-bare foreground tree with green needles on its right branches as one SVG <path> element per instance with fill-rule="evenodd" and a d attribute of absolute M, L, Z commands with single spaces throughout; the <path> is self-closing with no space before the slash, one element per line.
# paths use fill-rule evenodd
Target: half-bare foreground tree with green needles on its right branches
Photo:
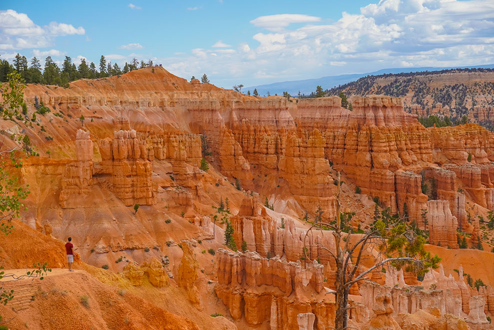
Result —
<path fill-rule="evenodd" d="M 339 172 L 337 180 L 339 183 Z M 341 231 L 340 185 L 336 186 L 336 225 L 332 226 L 323 222 L 312 225 L 303 239 L 303 254 L 305 264 L 308 258 L 305 242 L 312 228 L 326 226 L 334 230 L 332 234 L 336 251 L 322 245 L 319 247 L 327 251 L 336 263 L 334 324 L 336 330 L 345 330 L 349 329 L 347 327 L 348 310 L 350 309 L 348 307 L 348 294 L 353 284 L 368 279 L 369 274 L 380 271 L 384 265 L 393 266 L 396 269 L 403 268 L 406 271 L 415 272 L 417 275 L 423 275 L 429 268 L 437 268 L 440 258 L 431 257 L 430 253 L 425 252 L 425 239 L 409 230 L 405 224 L 398 223 L 393 226 L 391 223 L 385 224 L 380 219 L 375 223 L 375 228 L 359 235 L 356 243 L 351 243 L 351 230 L 348 234 L 343 234 Z M 365 269 L 360 263 L 365 259 L 364 253 L 369 256 L 373 255 L 372 250 L 379 253 L 373 261 L 373 266 Z"/>

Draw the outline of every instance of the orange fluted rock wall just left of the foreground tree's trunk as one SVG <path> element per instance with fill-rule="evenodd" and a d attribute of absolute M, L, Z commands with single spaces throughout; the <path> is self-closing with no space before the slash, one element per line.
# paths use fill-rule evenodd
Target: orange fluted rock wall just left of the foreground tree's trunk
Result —
<path fill-rule="evenodd" d="M 216 251 L 215 292 L 234 320 L 244 315 L 251 327 L 269 320 L 271 329 L 298 329 L 297 316 L 314 313 L 317 329 L 334 327 L 334 303 L 324 297 L 322 265 L 300 263 L 257 253 Z"/>

